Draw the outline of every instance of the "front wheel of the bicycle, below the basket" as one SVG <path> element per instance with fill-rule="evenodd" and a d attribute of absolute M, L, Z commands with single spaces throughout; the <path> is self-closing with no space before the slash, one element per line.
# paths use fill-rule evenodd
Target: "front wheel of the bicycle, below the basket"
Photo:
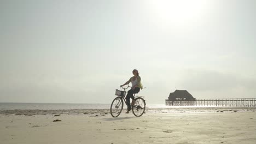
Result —
<path fill-rule="evenodd" d="M 122 97 L 117 97 L 112 101 L 110 106 L 110 114 L 112 117 L 118 117 L 123 110 L 124 101 Z"/>

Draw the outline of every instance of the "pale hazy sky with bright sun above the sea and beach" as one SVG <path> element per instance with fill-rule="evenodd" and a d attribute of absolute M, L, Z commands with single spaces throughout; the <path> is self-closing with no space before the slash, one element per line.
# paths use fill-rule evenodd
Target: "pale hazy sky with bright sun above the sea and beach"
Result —
<path fill-rule="evenodd" d="M 0 103 L 256 98 L 256 1 L 0 0 Z"/>

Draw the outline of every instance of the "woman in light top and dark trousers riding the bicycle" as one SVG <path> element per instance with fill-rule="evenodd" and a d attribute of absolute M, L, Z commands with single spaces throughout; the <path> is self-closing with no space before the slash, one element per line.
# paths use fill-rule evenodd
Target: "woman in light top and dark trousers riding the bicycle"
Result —
<path fill-rule="evenodd" d="M 127 103 L 127 112 L 129 113 L 129 111 L 131 110 L 131 105 L 135 104 L 135 100 L 133 97 L 133 94 L 138 93 L 140 89 L 142 89 L 142 84 L 141 84 L 141 77 L 139 76 L 138 70 L 137 69 L 133 69 L 132 70 L 132 74 L 134 76 L 132 76 L 129 81 L 125 82 L 124 85 L 121 85 L 120 87 L 123 87 L 125 85 L 129 85 L 129 83 L 132 83 L 131 89 L 128 91 L 127 95 L 126 95 L 126 103 Z M 132 99 L 132 103 L 130 104 L 130 98 Z"/>

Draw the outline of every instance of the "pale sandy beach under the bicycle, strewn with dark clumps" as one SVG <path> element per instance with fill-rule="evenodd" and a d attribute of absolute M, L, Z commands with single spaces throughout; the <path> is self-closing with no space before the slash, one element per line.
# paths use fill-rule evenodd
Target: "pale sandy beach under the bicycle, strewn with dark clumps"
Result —
<path fill-rule="evenodd" d="M 255 109 L 6 110 L 1 143 L 255 143 Z M 16 114 L 15 114 L 16 113 Z M 60 116 L 55 116 L 60 115 Z M 60 119 L 60 122 L 53 122 Z"/>

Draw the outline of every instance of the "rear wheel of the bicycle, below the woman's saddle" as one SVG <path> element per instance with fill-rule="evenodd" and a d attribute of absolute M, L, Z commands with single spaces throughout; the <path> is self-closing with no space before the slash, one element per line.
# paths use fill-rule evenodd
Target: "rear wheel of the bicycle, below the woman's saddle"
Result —
<path fill-rule="evenodd" d="M 132 105 L 132 113 L 133 115 L 135 115 L 136 117 L 140 117 L 143 115 L 144 111 L 146 109 L 146 103 L 145 100 L 143 98 L 136 98 L 135 99 L 135 104 Z"/>

